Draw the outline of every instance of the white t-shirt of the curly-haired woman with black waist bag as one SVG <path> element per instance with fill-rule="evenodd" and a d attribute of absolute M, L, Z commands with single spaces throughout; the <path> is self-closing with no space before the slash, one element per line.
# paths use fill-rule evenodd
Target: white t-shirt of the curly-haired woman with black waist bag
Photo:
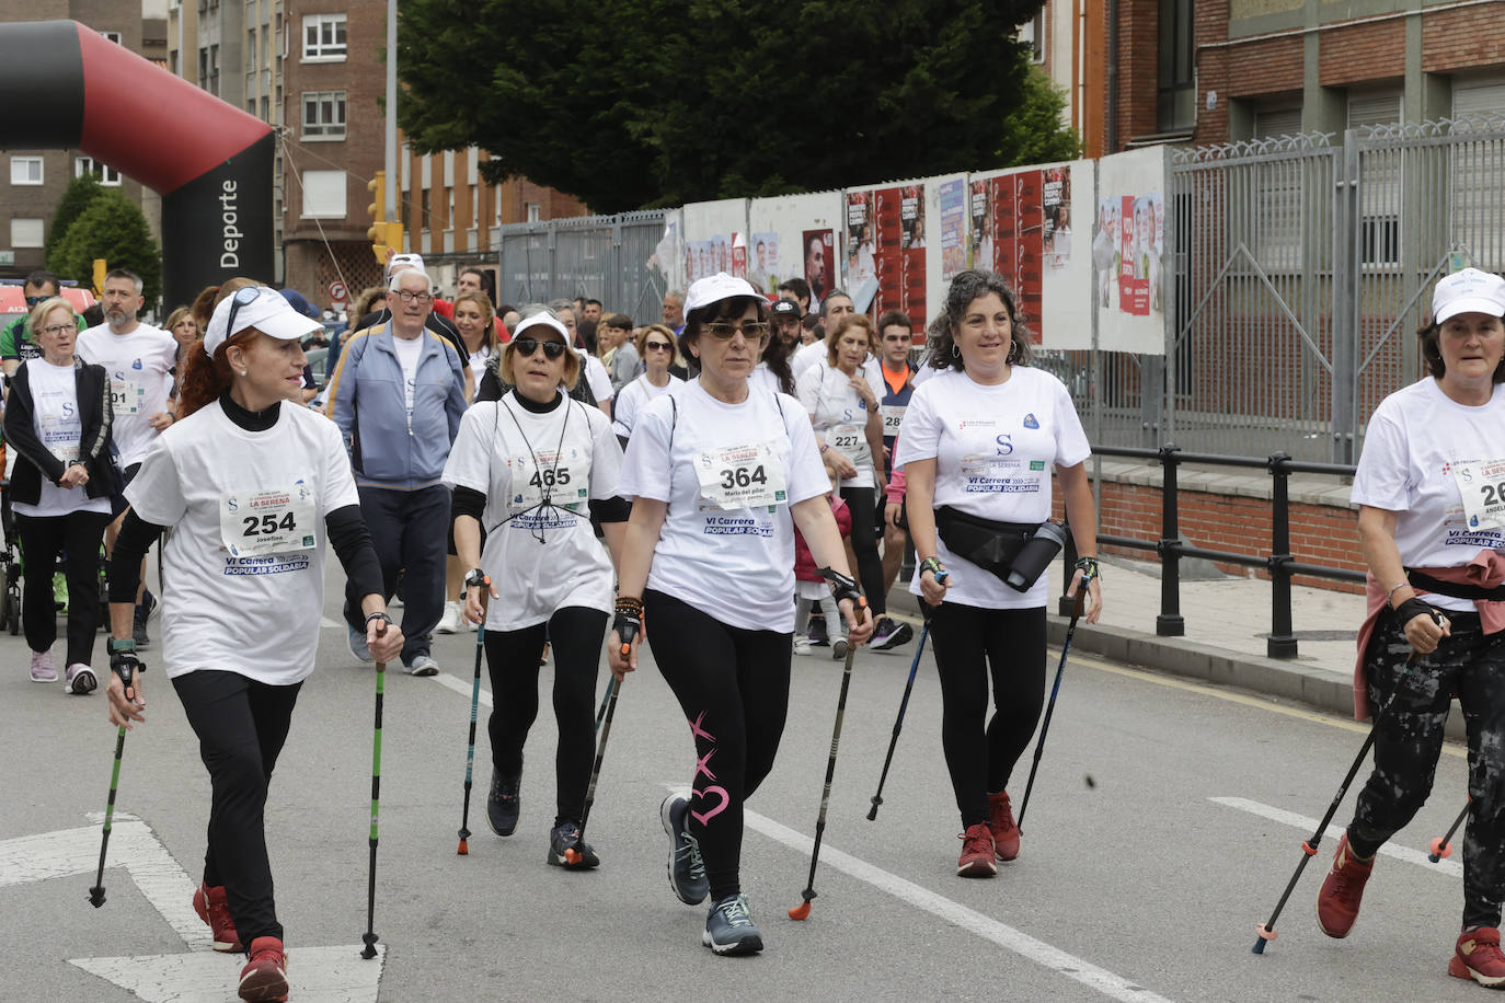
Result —
<path fill-rule="evenodd" d="M 942 370 L 909 398 L 894 466 L 936 460 L 936 508 L 1038 523 L 1050 517 L 1052 468 L 1076 466 L 1091 453 L 1072 395 L 1050 373 L 1014 365 L 1007 382 L 984 386 L 966 373 Z M 951 571 L 948 603 L 1029 609 L 1049 600 L 1049 573 L 1028 592 L 1016 592 L 953 553 L 939 532 L 936 550 Z M 918 568 L 909 591 L 920 595 Z"/>

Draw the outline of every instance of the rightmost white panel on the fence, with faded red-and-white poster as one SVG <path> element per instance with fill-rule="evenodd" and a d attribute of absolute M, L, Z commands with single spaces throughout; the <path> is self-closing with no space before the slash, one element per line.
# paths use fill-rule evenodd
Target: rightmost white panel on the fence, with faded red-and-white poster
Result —
<path fill-rule="evenodd" d="M 1108 352 L 1165 353 L 1165 158 L 1148 147 L 1099 161 L 1093 302 Z"/>

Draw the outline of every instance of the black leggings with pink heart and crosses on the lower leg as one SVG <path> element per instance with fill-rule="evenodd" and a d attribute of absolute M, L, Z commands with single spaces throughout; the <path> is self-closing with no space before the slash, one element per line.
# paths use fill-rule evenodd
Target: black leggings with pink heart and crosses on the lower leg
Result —
<path fill-rule="evenodd" d="M 653 589 L 643 605 L 653 660 L 695 738 L 689 830 L 719 902 L 742 890 L 742 803 L 774 768 L 784 734 L 790 636 L 728 627 Z"/>

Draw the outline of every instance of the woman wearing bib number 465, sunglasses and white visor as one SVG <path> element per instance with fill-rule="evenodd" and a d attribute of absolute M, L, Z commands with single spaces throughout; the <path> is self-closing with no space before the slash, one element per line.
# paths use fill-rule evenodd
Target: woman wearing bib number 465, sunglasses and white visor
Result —
<path fill-rule="evenodd" d="M 596 749 L 591 711 L 613 567 L 590 517 L 617 553 L 631 508 L 616 495 L 622 447 L 599 408 L 567 395 L 581 379 L 581 362 L 552 311 L 540 308 L 518 325 L 501 350 L 501 379 L 513 389 L 465 412 L 444 468 L 456 550 L 474 568 L 465 579 L 465 617 L 485 617 L 495 698 L 486 820 L 498 836 L 518 826 L 522 746 L 539 713 L 539 653 L 548 636 L 558 720 L 548 862 L 594 868 L 600 860 L 581 839 L 581 815 Z"/>

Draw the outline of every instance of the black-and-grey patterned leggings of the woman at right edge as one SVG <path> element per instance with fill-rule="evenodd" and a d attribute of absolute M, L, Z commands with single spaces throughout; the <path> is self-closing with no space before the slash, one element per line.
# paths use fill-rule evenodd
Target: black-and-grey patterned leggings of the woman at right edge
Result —
<path fill-rule="evenodd" d="M 1427 801 L 1443 723 L 1454 695 L 1469 735 L 1469 824 L 1463 836 L 1463 925 L 1499 926 L 1505 899 L 1505 633 L 1485 636 L 1478 614 L 1448 612 L 1452 635 L 1434 653 L 1406 665 L 1404 624 L 1380 614 L 1364 656 L 1370 702 L 1379 717 L 1370 774 L 1348 844 L 1373 856 Z M 1386 701 L 1394 702 L 1382 714 Z M 1455 792 L 1449 792 L 1452 800 Z"/>

